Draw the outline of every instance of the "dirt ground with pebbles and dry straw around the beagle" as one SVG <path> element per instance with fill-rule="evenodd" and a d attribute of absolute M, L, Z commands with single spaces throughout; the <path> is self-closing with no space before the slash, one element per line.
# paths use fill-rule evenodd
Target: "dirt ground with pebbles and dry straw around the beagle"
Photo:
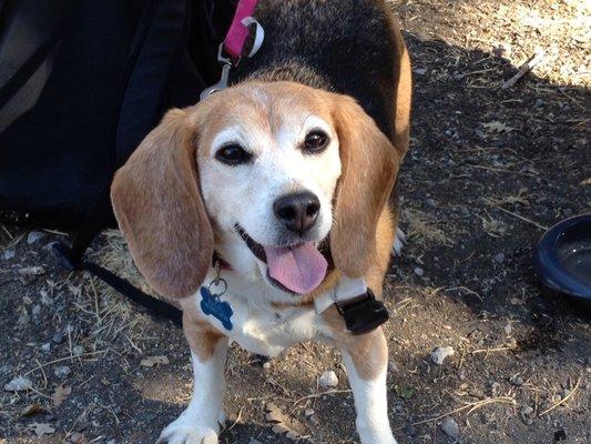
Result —
<path fill-rule="evenodd" d="M 591 210 L 591 4 L 390 3 L 415 74 L 400 179 L 408 243 L 386 283 L 396 437 L 590 443 L 590 317 L 540 292 L 531 246 L 544 228 Z M 542 62 L 501 89 L 538 47 Z M 62 271 L 49 246 L 63 239 L 0 228 L 0 385 L 30 382 L 0 392 L 0 443 L 153 443 L 191 394 L 182 332 Z M 134 278 L 116 232 L 91 255 Z M 444 365 L 429 357 L 437 346 L 455 350 Z M 289 442 L 265 418 L 272 401 L 309 442 L 356 442 L 339 362 L 320 344 L 268 363 L 232 346 L 221 441 Z M 326 391 L 318 377 L 329 370 L 339 384 Z"/>

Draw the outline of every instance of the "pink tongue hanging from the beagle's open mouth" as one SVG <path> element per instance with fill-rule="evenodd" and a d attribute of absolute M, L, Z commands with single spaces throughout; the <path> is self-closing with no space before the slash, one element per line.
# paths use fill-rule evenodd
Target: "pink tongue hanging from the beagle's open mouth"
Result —
<path fill-rule="evenodd" d="M 316 289 L 326 274 L 326 259 L 312 242 L 291 249 L 265 246 L 268 275 L 294 293 Z"/>

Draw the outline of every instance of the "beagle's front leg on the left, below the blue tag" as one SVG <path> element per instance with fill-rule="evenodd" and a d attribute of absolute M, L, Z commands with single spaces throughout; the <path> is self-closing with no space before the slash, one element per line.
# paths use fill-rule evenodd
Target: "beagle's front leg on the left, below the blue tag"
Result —
<path fill-rule="evenodd" d="M 184 312 L 183 330 L 191 347 L 193 397 L 186 410 L 169 424 L 159 443 L 216 444 L 225 421 L 223 398 L 227 337 Z"/>

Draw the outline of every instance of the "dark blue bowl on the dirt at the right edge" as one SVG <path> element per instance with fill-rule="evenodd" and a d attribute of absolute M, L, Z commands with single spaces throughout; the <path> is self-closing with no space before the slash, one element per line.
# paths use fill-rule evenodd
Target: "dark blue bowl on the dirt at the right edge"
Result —
<path fill-rule="evenodd" d="M 533 249 L 533 264 L 546 287 L 591 307 L 591 214 L 548 230 Z"/>

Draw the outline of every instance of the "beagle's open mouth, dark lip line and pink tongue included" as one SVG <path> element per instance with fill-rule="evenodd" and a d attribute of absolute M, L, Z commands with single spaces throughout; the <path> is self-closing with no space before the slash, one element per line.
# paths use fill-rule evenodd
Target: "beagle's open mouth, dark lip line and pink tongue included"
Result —
<path fill-rule="evenodd" d="M 267 278 L 278 289 L 306 294 L 323 282 L 328 263 L 314 242 L 286 246 L 261 245 L 238 224 L 236 231 L 248 250 L 267 265 Z"/>

